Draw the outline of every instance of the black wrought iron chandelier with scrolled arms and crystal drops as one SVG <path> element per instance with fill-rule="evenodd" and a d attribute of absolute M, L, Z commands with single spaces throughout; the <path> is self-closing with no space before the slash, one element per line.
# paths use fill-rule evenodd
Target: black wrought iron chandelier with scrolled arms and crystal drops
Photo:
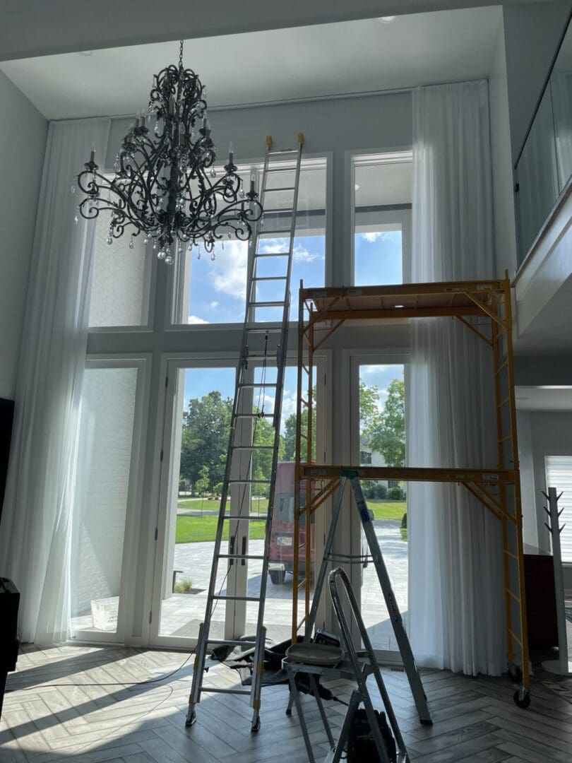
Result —
<path fill-rule="evenodd" d="M 178 66 L 154 76 L 149 106 L 124 137 L 113 177 L 99 172 L 92 151 L 77 178 L 85 193 L 77 214 L 93 219 L 110 211 L 108 244 L 127 230 L 133 248 L 133 237 L 142 233 L 144 243 L 153 241 L 157 257 L 171 264 L 185 246 L 203 246 L 214 259 L 217 241 L 252 237 L 252 224 L 262 217 L 255 179 L 245 192 L 232 144 L 228 163 L 217 176 L 206 90 L 183 67 L 181 40 Z"/>

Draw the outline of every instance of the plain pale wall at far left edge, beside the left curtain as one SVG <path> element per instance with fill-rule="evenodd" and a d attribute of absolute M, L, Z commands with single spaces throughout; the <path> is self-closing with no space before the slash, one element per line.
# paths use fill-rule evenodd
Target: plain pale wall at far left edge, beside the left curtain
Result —
<path fill-rule="evenodd" d="M 47 121 L 0 72 L 0 398 L 14 398 Z"/>

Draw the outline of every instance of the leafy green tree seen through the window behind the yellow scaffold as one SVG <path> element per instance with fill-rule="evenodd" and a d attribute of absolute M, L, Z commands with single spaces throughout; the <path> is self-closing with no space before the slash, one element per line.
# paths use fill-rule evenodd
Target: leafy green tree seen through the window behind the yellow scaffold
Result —
<path fill-rule="evenodd" d="M 368 445 L 384 457 L 388 466 L 405 465 L 405 385 L 403 379 L 391 381 L 384 410 L 365 421 L 363 436 Z"/>

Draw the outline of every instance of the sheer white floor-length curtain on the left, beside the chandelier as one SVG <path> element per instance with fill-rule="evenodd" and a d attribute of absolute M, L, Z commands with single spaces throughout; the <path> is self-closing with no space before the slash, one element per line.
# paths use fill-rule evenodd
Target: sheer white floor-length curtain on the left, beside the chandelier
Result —
<path fill-rule="evenodd" d="M 66 639 L 69 539 L 95 225 L 70 192 L 92 146 L 107 150 L 110 121 L 52 122 L 40 188 L 18 366 L 0 559 L 21 591 L 24 641 Z"/>

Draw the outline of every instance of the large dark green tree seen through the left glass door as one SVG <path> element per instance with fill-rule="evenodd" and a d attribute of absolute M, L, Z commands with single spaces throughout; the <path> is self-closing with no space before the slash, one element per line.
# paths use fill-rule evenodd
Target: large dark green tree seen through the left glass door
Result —
<path fill-rule="evenodd" d="M 208 469 L 208 489 L 224 478 L 233 401 L 212 390 L 202 398 L 191 398 L 183 414 L 181 477 L 195 484 L 201 468 Z"/>

